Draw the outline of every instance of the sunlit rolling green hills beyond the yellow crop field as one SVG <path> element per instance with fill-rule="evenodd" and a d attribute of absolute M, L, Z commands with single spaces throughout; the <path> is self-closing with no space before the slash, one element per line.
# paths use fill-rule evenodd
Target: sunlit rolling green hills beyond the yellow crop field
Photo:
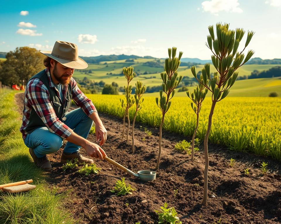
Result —
<path fill-rule="evenodd" d="M 137 80 L 142 81 L 143 84 L 146 86 L 157 86 L 162 84 L 160 73 L 163 71 L 163 67 L 150 67 L 148 66 L 148 63 L 146 63 L 156 62 L 157 60 L 146 58 L 137 58 L 133 60 L 133 62 L 126 62 L 126 59 L 124 59 L 119 61 L 100 62 L 99 64 L 89 64 L 89 67 L 87 69 L 75 70 L 73 77 L 76 79 L 83 79 L 84 77 L 87 77 L 88 79 L 92 79 L 95 82 L 104 81 L 106 84 L 116 82 L 119 86 L 124 86 L 126 84 L 126 79 L 124 78 L 122 69 L 123 67 L 133 66 L 134 71 L 137 73 L 137 76 L 133 79 L 132 85 L 134 85 Z M 163 63 L 164 60 L 160 60 L 160 62 Z M 239 72 L 239 76 L 249 76 L 253 70 L 263 71 L 275 66 L 275 64 L 246 64 L 240 67 L 237 71 Z M 203 65 L 196 65 L 196 72 L 201 71 L 202 68 Z M 89 73 L 89 71 L 91 73 Z M 211 65 L 211 72 L 214 71 L 215 67 Z M 188 76 L 191 78 L 193 77 L 191 74 L 190 67 L 179 67 L 178 72 L 182 76 Z M 232 87 L 229 95 L 241 96 L 241 88 L 247 91 L 247 96 L 268 96 L 270 92 L 279 92 L 280 95 L 280 85 L 265 86 L 267 83 L 270 83 L 270 80 L 272 79 L 265 78 L 239 80 Z M 241 88 L 239 88 L 240 85 Z"/>

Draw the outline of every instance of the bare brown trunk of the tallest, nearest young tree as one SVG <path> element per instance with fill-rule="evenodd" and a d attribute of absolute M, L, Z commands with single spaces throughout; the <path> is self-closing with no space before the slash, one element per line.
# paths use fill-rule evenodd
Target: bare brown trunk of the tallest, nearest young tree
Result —
<path fill-rule="evenodd" d="M 217 101 L 212 102 L 211 111 L 209 114 L 208 128 L 204 139 L 204 151 L 205 151 L 205 170 L 204 170 L 204 193 L 202 205 L 207 205 L 208 198 L 208 168 L 209 168 L 209 155 L 208 155 L 208 138 L 212 126 L 212 116 L 214 113 L 215 105 Z"/>

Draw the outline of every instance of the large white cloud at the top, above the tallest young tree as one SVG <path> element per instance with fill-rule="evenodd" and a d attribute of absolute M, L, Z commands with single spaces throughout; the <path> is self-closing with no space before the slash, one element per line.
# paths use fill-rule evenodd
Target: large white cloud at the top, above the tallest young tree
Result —
<path fill-rule="evenodd" d="M 205 12 L 218 15 L 220 11 L 242 13 L 243 10 L 239 8 L 238 0 L 211 0 L 203 1 L 202 8 Z"/>

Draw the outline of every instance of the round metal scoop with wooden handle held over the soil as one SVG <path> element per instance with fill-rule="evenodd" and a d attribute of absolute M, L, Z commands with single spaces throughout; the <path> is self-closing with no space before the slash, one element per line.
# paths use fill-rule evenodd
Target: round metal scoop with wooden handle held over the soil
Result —
<path fill-rule="evenodd" d="M 113 164 L 114 166 L 118 167 L 119 169 L 125 171 L 126 173 L 130 174 L 131 176 L 135 176 L 140 178 L 141 181 L 147 182 L 147 181 L 153 181 L 156 178 L 156 172 L 150 171 L 150 170 L 140 170 L 138 171 L 138 174 L 134 173 L 133 171 L 127 169 L 126 167 L 123 167 L 118 162 L 115 162 L 114 160 L 108 158 L 107 156 L 104 157 L 105 160 Z"/>

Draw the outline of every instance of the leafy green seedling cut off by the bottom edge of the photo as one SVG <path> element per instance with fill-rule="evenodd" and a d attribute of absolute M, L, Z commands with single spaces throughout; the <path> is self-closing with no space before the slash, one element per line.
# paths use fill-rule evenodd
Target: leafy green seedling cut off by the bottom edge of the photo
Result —
<path fill-rule="evenodd" d="M 158 224 L 181 224 L 182 222 L 177 217 L 177 212 L 174 207 L 167 208 L 168 204 L 165 202 L 164 206 L 161 206 L 162 211 L 156 211 L 159 216 Z"/>

